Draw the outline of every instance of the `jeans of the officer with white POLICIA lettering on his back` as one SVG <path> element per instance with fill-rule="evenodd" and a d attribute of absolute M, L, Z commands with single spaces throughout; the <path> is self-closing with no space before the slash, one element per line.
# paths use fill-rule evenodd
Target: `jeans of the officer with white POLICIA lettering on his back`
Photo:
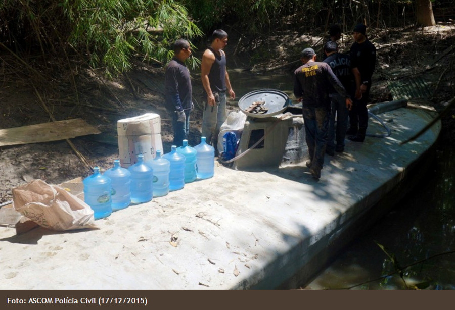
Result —
<path fill-rule="evenodd" d="M 346 98 L 338 93 L 331 94 L 332 111 L 329 121 L 329 135 L 327 137 L 327 149 L 334 151 L 344 148 L 344 138 L 346 137 L 347 124 L 349 119 L 349 110 L 346 108 Z M 335 129 L 335 117 L 337 126 Z M 334 140 L 337 142 L 335 147 Z"/>

